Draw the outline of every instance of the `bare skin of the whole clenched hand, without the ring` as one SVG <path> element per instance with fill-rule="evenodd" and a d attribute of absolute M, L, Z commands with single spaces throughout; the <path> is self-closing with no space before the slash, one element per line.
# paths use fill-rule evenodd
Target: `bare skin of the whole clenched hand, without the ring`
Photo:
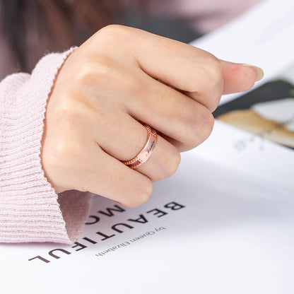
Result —
<path fill-rule="evenodd" d="M 252 88 L 253 66 L 165 37 L 109 25 L 66 59 L 49 97 L 41 160 L 57 193 L 93 192 L 128 207 L 148 200 L 153 182 L 175 173 L 180 152 L 213 129 L 220 96 Z M 129 160 L 146 143 L 144 122 L 158 131 L 141 167 Z"/>

